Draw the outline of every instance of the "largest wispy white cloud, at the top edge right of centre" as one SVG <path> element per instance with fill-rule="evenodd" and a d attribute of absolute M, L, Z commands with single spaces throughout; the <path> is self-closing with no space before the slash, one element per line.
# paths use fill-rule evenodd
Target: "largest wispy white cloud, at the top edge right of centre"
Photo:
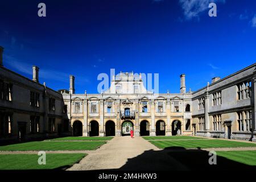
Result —
<path fill-rule="evenodd" d="M 223 2 L 225 0 L 179 0 L 185 19 L 199 18 L 199 14 L 208 10 L 209 3 Z M 207 14 L 208 15 L 208 14 Z"/>

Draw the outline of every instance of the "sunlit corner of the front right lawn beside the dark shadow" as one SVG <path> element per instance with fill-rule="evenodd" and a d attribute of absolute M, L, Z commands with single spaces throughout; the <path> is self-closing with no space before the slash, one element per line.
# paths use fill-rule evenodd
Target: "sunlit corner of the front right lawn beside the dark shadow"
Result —
<path fill-rule="evenodd" d="M 256 166 L 256 151 L 217 151 L 218 156 L 234 160 L 239 163 Z"/>

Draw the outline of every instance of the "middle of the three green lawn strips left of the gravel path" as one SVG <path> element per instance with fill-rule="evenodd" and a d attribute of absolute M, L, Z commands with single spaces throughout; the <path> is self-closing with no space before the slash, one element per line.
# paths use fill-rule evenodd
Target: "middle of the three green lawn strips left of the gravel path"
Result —
<path fill-rule="evenodd" d="M 26 142 L 0 146 L 0 151 L 55 151 L 55 150 L 95 150 L 105 144 L 104 141 L 93 142 Z"/>

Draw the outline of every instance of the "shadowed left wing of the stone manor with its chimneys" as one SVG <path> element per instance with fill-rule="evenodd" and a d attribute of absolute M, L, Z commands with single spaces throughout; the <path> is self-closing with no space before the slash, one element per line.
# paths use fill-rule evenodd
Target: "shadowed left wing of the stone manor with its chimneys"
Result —
<path fill-rule="evenodd" d="M 3 67 L 1 59 L 0 142 L 56 137 L 63 132 L 61 93 L 39 83 L 38 67 L 32 71 L 30 80 Z"/>

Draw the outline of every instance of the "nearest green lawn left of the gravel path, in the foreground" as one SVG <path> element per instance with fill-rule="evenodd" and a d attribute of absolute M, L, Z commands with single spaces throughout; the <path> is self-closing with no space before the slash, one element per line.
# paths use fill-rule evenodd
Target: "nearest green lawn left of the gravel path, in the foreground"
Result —
<path fill-rule="evenodd" d="M 40 156 L 36 154 L 0 155 L 0 170 L 18 169 L 56 169 L 71 167 L 78 163 L 86 154 L 46 154 L 46 164 L 39 165 Z"/>

